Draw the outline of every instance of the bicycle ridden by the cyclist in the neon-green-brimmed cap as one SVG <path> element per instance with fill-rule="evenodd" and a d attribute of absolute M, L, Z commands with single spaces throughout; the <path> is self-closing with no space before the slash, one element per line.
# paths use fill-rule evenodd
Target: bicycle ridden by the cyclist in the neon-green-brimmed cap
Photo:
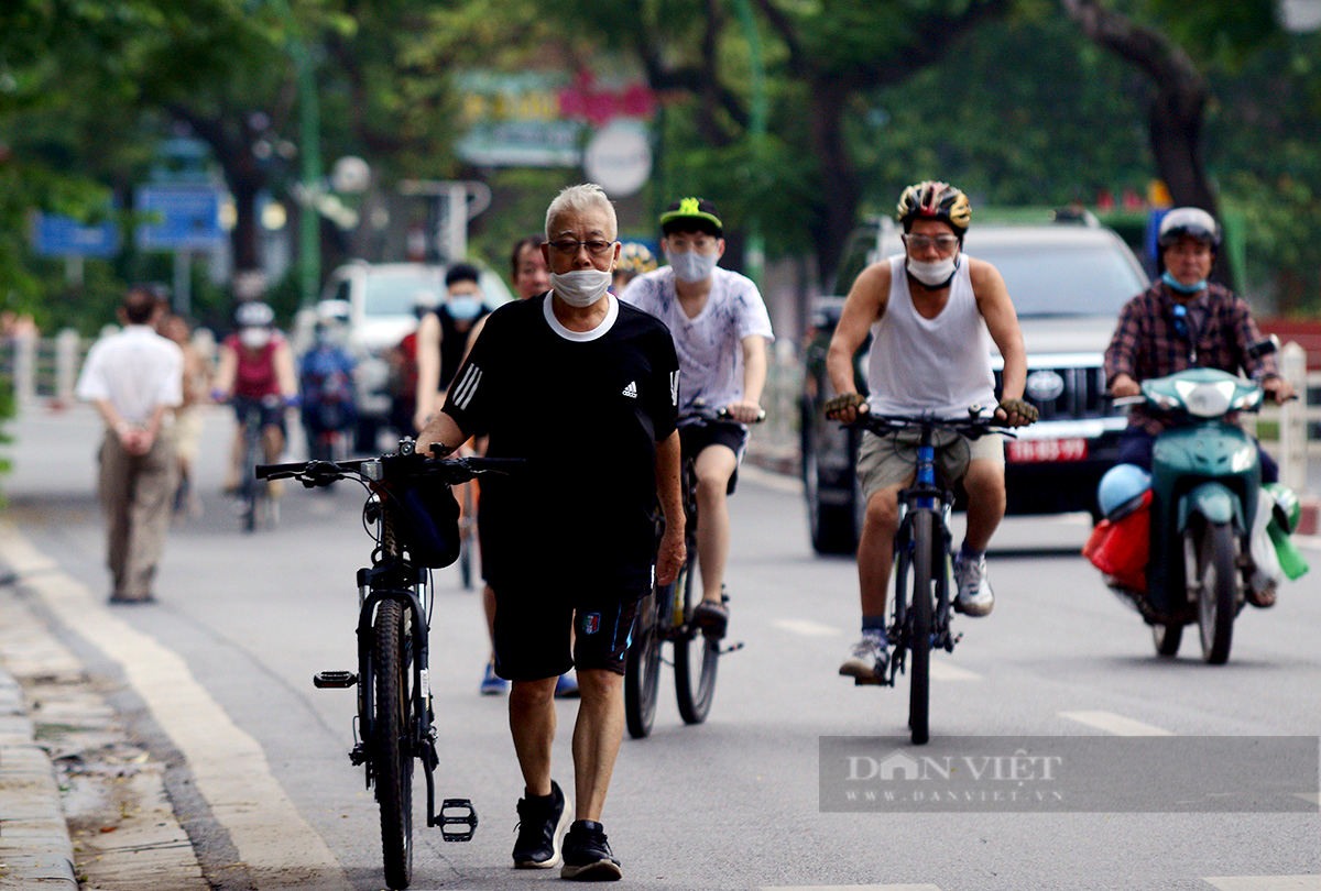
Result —
<path fill-rule="evenodd" d="M 766 417 L 762 412 L 761 421 Z M 679 416 L 680 425 L 705 425 L 724 421 L 725 409 L 695 405 Z M 697 471 L 695 455 L 686 455 L 682 466 L 684 545 L 687 557 L 679 576 L 670 585 L 653 583 L 651 593 L 638 606 L 633 644 L 629 647 L 624 673 L 624 714 L 629 735 L 641 739 L 651 733 L 657 698 L 660 689 L 660 647 L 674 644 L 674 686 L 679 715 L 684 723 L 701 723 L 711 713 L 716 696 L 716 669 L 720 657 L 742 644 L 723 647 L 720 640 L 704 635 L 692 620 L 692 611 L 701 601 L 697 579 Z M 664 517 L 657 513 L 657 543 L 664 533 Z"/>

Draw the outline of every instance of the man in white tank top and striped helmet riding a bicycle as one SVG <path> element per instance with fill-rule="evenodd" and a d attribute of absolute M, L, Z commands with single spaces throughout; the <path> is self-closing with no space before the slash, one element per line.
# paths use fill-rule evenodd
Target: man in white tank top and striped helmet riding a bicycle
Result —
<path fill-rule="evenodd" d="M 962 256 L 971 206 L 945 182 L 904 190 L 898 220 L 905 253 L 864 269 L 849 290 L 831 339 L 826 368 L 839 393 L 826 416 L 844 422 L 860 411 L 880 414 L 967 418 L 968 408 L 996 405 L 991 342 L 1004 356 L 1004 392 L 995 421 L 1022 426 L 1037 409 L 1022 401 L 1028 356 L 1018 317 L 993 265 Z M 853 355 L 872 335 L 864 400 L 853 381 Z M 985 615 L 995 598 L 987 582 L 985 548 L 1004 517 L 1004 446 L 999 436 L 937 440 L 937 463 L 947 484 L 959 478 L 968 494 L 968 525 L 954 560 L 955 609 Z M 904 433 L 863 434 L 857 473 L 867 499 L 857 572 L 863 639 L 840 665 L 840 675 L 876 682 L 889 659 L 885 606 L 898 531 L 898 492 L 910 486 L 915 441 Z"/>

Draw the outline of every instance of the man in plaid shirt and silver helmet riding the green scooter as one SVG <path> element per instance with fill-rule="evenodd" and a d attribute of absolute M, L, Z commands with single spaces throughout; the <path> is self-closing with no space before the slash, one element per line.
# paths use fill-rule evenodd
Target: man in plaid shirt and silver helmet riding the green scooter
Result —
<path fill-rule="evenodd" d="M 1275 358 L 1248 351 L 1262 339 L 1252 310 L 1229 288 L 1207 281 L 1221 246 L 1215 218 L 1199 207 L 1176 207 L 1161 220 L 1157 246 L 1161 277 L 1124 305 L 1106 350 L 1110 393 L 1137 396 L 1141 381 L 1185 368 L 1229 374 L 1242 368 L 1276 403 L 1293 399 L 1293 387 L 1279 375 Z M 1119 444 L 1119 462 L 1149 471 L 1156 436 L 1168 424 L 1135 405 Z M 1275 461 L 1264 451 L 1262 479 L 1279 479 Z"/>

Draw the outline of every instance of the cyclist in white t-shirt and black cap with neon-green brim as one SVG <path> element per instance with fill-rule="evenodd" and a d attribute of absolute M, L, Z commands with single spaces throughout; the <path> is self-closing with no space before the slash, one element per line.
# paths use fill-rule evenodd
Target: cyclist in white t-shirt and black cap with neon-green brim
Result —
<path fill-rule="evenodd" d="M 694 620 L 713 638 L 729 624 L 725 561 L 729 506 L 748 445 L 748 424 L 761 416 L 766 385 L 766 343 L 774 339 L 757 285 L 721 269 L 724 224 L 715 206 L 683 198 L 660 214 L 662 246 L 670 265 L 634 279 L 620 296 L 670 327 L 679 354 L 679 437 L 697 473 L 697 564 L 701 603 Z M 729 421 L 684 425 L 686 409 L 724 408 Z"/>

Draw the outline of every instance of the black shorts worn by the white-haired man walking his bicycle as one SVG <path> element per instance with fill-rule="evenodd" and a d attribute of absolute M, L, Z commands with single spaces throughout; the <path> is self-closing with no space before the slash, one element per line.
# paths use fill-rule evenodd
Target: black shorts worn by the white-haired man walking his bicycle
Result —
<path fill-rule="evenodd" d="M 559 582 L 565 585 L 572 582 Z M 509 681 L 559 677 L 575 665 L 624 673 L 641 598 L 627 591 L 569 597 L 550 585 L 495 589 L 495 673 Z M 573 652 L 569 652 L 569 627 Z"/>

